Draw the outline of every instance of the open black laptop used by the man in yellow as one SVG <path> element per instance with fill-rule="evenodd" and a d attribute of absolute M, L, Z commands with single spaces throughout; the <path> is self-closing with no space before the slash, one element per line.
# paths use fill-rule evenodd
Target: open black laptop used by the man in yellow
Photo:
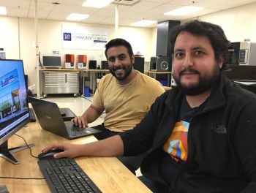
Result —
<path fill-rule="evenodd" d="M 101 132 L 91 127 L 79 128 L 78 126 L 73 126 L 70 121 L 64 122 L 59 107 L 54 102 L 36 98 L 30 98 L 29 102 L 31 102 L 40 126 L 48 132 L 69 140 Z"/>

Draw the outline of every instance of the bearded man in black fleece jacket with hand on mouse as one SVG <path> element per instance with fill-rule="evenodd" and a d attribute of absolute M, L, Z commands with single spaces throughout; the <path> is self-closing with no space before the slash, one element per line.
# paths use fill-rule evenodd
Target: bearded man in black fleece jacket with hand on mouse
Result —
<path fill-rule="evenodd" d="M 141 180 L 153 192 L 256 192 L 256 95 L 224 75 L 230 42 L 217 25 L 192 20 L 170 37 L 176 88 L 134 129 L 83 145 L 56 144 L 56 158 L 149 151 Z"/>

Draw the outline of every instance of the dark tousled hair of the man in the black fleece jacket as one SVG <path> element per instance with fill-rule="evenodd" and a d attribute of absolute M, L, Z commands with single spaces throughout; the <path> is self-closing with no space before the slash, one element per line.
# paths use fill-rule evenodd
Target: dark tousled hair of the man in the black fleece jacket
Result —
<path fill-rule="evenodd" d="M 227 48 L 230 46 L 230 41 L 227 40 L 227 37 L 220 26 L 201 20 L 192 20 L 184 23 L 184 25 L 176 26 L 170 34 L 172 53 L 176 38 L 182 31 L 187 31 L 195 36 L 207 37 L 211 42 L 212 48 L 214 49 L 215 59 L 219 61 L 219 56 L 224 57 L 222 69 L 226 69 L 225 53 L 227 53 Z"/>

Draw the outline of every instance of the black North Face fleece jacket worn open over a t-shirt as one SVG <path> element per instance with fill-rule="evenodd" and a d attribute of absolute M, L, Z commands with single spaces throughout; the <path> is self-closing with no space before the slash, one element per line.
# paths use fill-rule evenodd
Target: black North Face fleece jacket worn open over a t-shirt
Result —
<path fill-rule="evenodd" d="M 159 153 L 170 136 L 183 94 L 157 98 L 134 129 L 120 134 L 124 156 L 150 150 L 140 170 L 170 192 L 256 192 L 256 95 L 221 75 L 205 107 L 192 119 L 187 162 L 171 184 L 159 174 Z"/>

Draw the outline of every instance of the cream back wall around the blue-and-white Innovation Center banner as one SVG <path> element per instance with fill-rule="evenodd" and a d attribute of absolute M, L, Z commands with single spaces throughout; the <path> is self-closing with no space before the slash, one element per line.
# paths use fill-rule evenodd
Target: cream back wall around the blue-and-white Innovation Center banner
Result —
<path fill-rule="evenodd" d="M 104 50 L 69 50 L 61 48 L 61 26 L 90 26 L 103 27 L 109 29 L 109 39 L 115 38 L 115 27 L 109 25 L 96 25 L 92 23 L 65 22 L 59 20 L 39 20 L 38 41 L 41 56 L 53 55 L 53 50 L 59 50 L 62 64 L 64 65 L 64 55 L 72 53 L 75 55 L 86 54 L 88 58 L 97 61 L 105 60 Z M 36 67 L 38 65 L 35 45 L 35 26 L 32 18 L 0 17 L 0 48 L 4 48 L 7 58 L 22 59 L 25 73 L 29 75 L 29 86 L 36 84 Z M 145 61 L 150 61 L 150 57 L 155 55 L 152 45 L 156 45 L 154 37 L 155 29 L 135 28 L 129 26 L 119 26 L 118 37 L 127 39 L 131 43 L 134 53 L 140 52 L 144 55 Z M 156 40 L 155 40 L 156 41 Z M 152 53 L 152 50 L 154 51 Z M 34 90 L 37 93 L 37 86 Z"/>

